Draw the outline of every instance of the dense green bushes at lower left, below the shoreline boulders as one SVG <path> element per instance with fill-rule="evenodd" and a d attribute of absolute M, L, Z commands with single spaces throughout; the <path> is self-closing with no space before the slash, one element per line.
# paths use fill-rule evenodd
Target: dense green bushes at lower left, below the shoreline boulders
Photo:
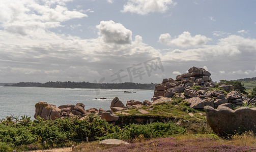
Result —
<path fill-rule="evenodd" d="M 14 122 L 8 117 L 8 119 L 1 120 L 0 149 L 6 151 L 4 149 L 10 145 L 33 147 L 30 145 L 33 144 L 40 146 L 44 141 L 47 143 L 44 148 L 58 147 L 65 145 L 67 141 L 86 140 L 86 137 L 89 137 L 91 141 L 96 140 L 95 137 L 101 137 L 117 130 L 105 120 L 94 116 L 89 116 L 83 121 L 79 121 L 77 118 L 46 121 L 40 117 L 37 119 L 31 121 L 30 117 L 22 117 L 21 120 Z M 34 146 L 33 148 L 37 147 Z"/>

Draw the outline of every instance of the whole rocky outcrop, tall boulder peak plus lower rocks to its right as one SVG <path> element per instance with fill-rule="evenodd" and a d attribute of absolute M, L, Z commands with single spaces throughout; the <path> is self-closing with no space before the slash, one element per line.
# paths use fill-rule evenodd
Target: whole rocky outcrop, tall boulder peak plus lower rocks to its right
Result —
<path fill-rule="evenodd" d="M 211 73 L 204 68 L 191 67 L 188 73 L 177 75 L 176 80 L 163 79 L 161 84 L 155 86 L 154 96 L 151 100 L 156 101 L 176 95 L 189 102 L 192 108 L 204 108 L 206 105 L 214 108 L 218 106 L 242 106 L 242 95 L 237 91 L 232 91 L 234 89 L 232 85 L 219 86 L 226 92 L 232 91 L 226 97 L 223 91 L 209 90 L 209 88 L 215 87 L 210 75 Z M 193 86 L 198 86 L 196 88 L 199 91 L 191 88 Z"/>

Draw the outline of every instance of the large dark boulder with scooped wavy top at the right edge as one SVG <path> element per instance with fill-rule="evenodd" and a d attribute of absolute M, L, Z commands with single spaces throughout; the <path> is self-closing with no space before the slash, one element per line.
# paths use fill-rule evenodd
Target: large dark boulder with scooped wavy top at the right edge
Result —
<path fill-rule="evenodd" d="M 207 123 L 218 136 L 242 134 L 248 131 L 256 133 L 256 108 L 241 107 L 232 110 L 225 106 L 217 109 L 205 106 L 204 109 Z"/>

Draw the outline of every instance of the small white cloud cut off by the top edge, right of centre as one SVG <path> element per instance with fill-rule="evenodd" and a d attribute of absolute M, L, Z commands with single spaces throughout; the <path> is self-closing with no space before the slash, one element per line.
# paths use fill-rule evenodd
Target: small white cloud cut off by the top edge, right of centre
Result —
<path fill-rule="evenodd" d="M 140 15 L 149 13 L 164 13 L 177 3 L 173 0 L 129 0 L 121 12 L 131 12 Z"/>

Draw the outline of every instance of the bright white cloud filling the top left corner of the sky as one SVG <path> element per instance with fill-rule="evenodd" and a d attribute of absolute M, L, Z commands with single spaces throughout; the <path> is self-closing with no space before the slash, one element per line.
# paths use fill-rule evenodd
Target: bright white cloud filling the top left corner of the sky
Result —
<path fill-rule="evenodd" d="M 67 2 L 69 1 L 3 0 L 0 2 L 0 26 L 8 32 L 26 35 L 40 29 L 60 27 L 63 21 L 87 17 L 81 12 L 69 11 L 65 6 Z M 52 6 L 53 4 L 55 5 Z"/>

